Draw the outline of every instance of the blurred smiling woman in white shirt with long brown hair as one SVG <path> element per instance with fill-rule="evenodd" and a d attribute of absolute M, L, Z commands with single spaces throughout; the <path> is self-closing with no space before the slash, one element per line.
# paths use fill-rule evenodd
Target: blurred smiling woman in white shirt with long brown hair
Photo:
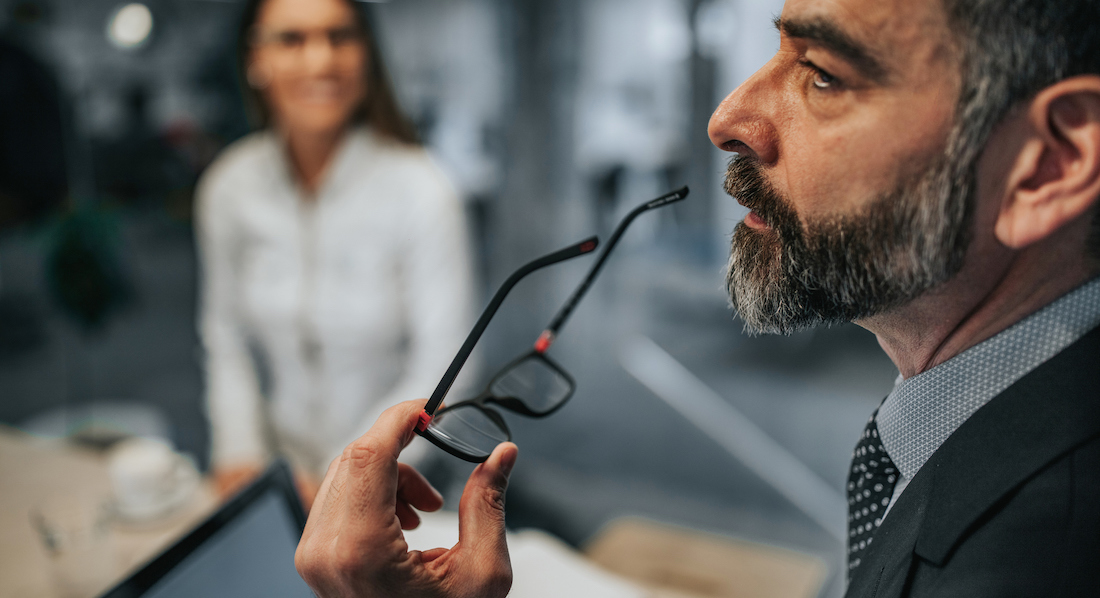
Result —
<path fill-rule="evenodd" d="M 223 494 L 273 452 L 316 481 L 382 410 L 427 397 L 472 294 L 462 206 L 354 3 L 252 0 L 239 53 L 262 129 L 210 166 L 197 201 Z"/>

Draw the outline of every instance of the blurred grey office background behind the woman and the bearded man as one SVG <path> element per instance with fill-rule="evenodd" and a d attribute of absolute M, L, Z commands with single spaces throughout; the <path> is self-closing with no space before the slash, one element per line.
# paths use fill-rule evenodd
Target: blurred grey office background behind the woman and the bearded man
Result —
<path fill-rule="evenodd" d="M 0 421 L 154 430 L 202 464 L 191 202 L 249 131 L 241 3 L 144 2 L 123 18 L 118 0 L 0 0 Z M 855 326 L 743 333 L 723 288 L 743 212 L 706 136 L 774 52 L 781 7 L 365 4 L 405 109 L 466 201 L 483 299 L 530 257 L 692 189 L 631 228 L 551 351 L 576 378 L 572 402 L 509 418 L 510 523 L 581 545 L 640 514 L 791 547 L 829 565 L 832 596 L 850 450 L 897 370 Z M 57 182 L 25 184 L 42 177 Z M 482 341 L 483 377 L 530 346 L 588 265 L 516 289 Z"/>

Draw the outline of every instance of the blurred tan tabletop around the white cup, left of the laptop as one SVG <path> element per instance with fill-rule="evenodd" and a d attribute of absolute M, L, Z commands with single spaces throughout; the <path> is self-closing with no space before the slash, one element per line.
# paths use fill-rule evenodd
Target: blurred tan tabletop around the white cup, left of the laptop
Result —
<path fill-rule="evenodd" d="M 89 503 L 110 497 L 102 454 L 56 440 L 44 440 L 0 425 L 0 598 L 53 598 L 50 555 L 31 524 L 35 505 L 56 496 Z M 116 582 L 124 578 L 217 507 L 204 483 L 184 508 L 155 523 L 111 525 Z M 89 593 L 101 594 L 108 587 Z"/>

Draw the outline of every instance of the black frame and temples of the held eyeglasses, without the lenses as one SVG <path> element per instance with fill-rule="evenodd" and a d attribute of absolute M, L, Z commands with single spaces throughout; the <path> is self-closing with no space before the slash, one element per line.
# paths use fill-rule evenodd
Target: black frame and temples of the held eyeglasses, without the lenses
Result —
<path fill-rule="evenodd" d="M 573 379 L 573 377 L 568 372 L 565 372 L 563 367 L 561 367 L 549 356 L 547 356 L 546 352 L 557 340 L 557 335 L 561 330 L 562 325 L 564 325 L 565 320 L 568 320 L 569 317 L 572 314 L 573 310 L 576 309 L 576 306 L 580 302 L 581 298 L 585 295 L 585 292 L 587 292 L 596 275 L 603 268 L 604 263 L 607 261 L 607 256 L 610 254 L 612 250 L 615 248 L 615 245 L 618 244 L 619 237 L 623 236 L 623 233 L 626 231 L 627 226 L 629 226 L 629 224 L 634 222 L 634 219 L 636 219 L 639 214 L 641 214 L 645 211 L 680 201 L 686 198 L 689 192 L 690 191 L 688 187 L 681 187 L 675 191 L 666 193 L 656 199 L 649 200 L 642 203 L 641 206 L 638 206 L 637 208 L 631 210 L 626 217 L 624 217 L 623 220 L 619 222 L 619 224 L 615 228 L 615 231 L 612 233 L 612 236 L 608 240 L 607 245 L 604 247 L 604 251 L 601 252 L 600 256 L 596 258 L 596 262 L 592 265 L 592 268 L 588 270 L 588 274 L 584 277 L 584 279 L 576 287 L 576 289 L 573 291 L 570 298 L 565 301 L 561 310 L 558 311 L 553 320 L 551 320 L 550 325 L 548 325 L 542 331 L 542 333 L 539 334 L 538 340 L 535 342 L 535 347 L 528 353 L 520 355 L 519 357 L 513 359 L 510 363 L 501 368 L 501 370 L 493 377 L 493 379 L 490 380 L 490 384 L 485 387 L 485 390 L 483 390 L 480 395 L 477 395 L 472 399 L 466 399 L 455 405 L 440 409 L 438 414 L 441 416 L 444 412 L 452 411 L 459 408 L 464 408 L 464 409 L 476 408 L 487 418 L 490 418 L 490 420 L 492 420 L 493 423 L 497 425 L 502 432 L 504 432 L 505 440 L 512 440 L 512 431 L 508 429 L 508 425 L 505 423 L 504 418 L 501 416 L 501 413 L 495 409 L 493 409 L 492 407 L 490 407 L 491 403 L 530 418 L 544 418 L 564 407 L 564 405 L 569 402 L 569 399 L 572 398 L 574 391 L 576 390 L 576 383 Z M 519 270 L 516 270 L 516 273 L 514 273 L 505 281 L 505 284 L 493 297 L 493 300 L 485 308 L 485 311 L 482 313 L 477 323 L 474 325 L 474 330 L 471 331 L 470 336 L 466 337 L 466 342 L 459 351 L 459 355 L 455 356 L 454 362 L 451 363 L 451 367 L 448 369 L 447 374 L 444 374 L 443 379 L 440 380 L 439 386 L 436 387 L 436 392 L 432 394 L 431 399 L 425 406 L 424 411 L 420 413 L 420 421 L 417 423 L 416 427 L 417 434 L 427 439 L 429 442 L 431 442 L 436 446 L 439 446 L 447 453 L 457 456 L 463 461 L 468 461 L 470 463 L 483 463 L 485 459 L 488 458 L 487 454 L 474 455 L 472 453 L 466 453 L 455 446 L 448 444 L 446 441 L 438 438 L 429 428 L 432 418 L 437 414 L 436 410 L 439 409 L 443 396 L 446 396 L 447 391 L 450 389 L 451 384 L 453 384 L 454 377 L 458 376 L 459 369 L 461 369 L 462 365 L 470 356 L 470 353 L 473 352 L 473 345 L 481 337 L 481 334 L 484 332 L 485 326 L 488 325 L 488 320 L 491 320 L 492 317 L 496 313 L 496 310 L 499 308 L 501 302 L 503 302 L 504 297 L 508 294 L 508 291 L 512 290 L 512 287 L 515 286 L 515 284 L 518 283 L 520 278 L 522 278 L 527 274 L 530 274 L 535 269 L 541 268 L 543 266 L 549 266 L 550 264 L 554 264 L 557 262 L 569 259 L 570 257 L 575 257 L 576 255 L 580 255 L 580 254 L 572 254 L 550 261 L 550 258 L 552 258 L 553 256 L 558 256 L 559 254 L 565 254 L 571 250 L 583 246 L 585 245 L 585 243 L 590 242 L 596 243 L 597 241 L 595 240 L 595 237 L 592 237 L 591 240 L 581 242 L 578 245 L 566 247 L 548 256 L 543 256 L 539 259 L 536 259 L 535 262 L 531 262 L 526 266 L 521 267 Z M 588 251 L 592 251 L 594 248 L 595 246 L 592 246 Z M 497 380 L 508 375 L 512 372 L 512 369 L 518 366 L 519 364 L 531 358 L 544 362 L 548 366 L 550 366 L 551 369 L 553 369 L 557 374 L 560 374 L 562 378 L 569 383 L 569 392 L 566 392 L 565 397 L 559 400 L 554 407 L 548 409 L 544 412 L 532 411 L 530 408 L 527 407 L 527 405 L 522 400 L 518 398 L 497 397 L 492 391 L 493 386 L 494 384 L 496 384 Z M 458 367 L 455 367 L 455 365 Z"/>

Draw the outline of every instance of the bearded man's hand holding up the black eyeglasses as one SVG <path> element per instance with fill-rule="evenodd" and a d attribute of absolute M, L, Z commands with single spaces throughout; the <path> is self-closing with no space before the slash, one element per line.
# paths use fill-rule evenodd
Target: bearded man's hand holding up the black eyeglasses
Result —
<path fill-rule="evenodd" d="M 516 463 L 504 443 L 470 475 L 459 505 L 459 543 L 409 551 L 402 530 L 420 523 L 414 509 L 435 511 L 443 497 L 397 455 L 414 436 L 425 401 L 386 410 L 332 462 L 295 554 L 295 565 L 321 598 L 503 597 L 512 587 L 504 538 L 504 492 Z"/>

